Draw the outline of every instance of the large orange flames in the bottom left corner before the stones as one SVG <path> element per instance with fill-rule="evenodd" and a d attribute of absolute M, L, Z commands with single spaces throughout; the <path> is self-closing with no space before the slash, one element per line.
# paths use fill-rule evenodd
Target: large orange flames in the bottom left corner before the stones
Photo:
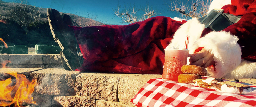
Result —
<path fill-rule="evenodd" d="M 11 77 L 0 81 L 0 106 L 5 107 L 15 103 L 15 107 L 22 107 L 23 102 L 36 104 L 31 97 L 36 85 L 35 80 L 29 81 L 25 75 L 17 74 L 17 72 L 7 74 L 16 78 L 16 84 L 11 85 L 13 83 Z"/>

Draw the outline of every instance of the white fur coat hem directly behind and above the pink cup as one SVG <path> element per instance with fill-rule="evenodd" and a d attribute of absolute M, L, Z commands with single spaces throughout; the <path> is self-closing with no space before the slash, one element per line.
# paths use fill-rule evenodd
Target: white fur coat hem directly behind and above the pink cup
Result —
<path fill-rule="evenodd" d="M 189 36 L 188 49 L 190 49 L 194 42 L 200 38 L 204 28 L 204 24 L 201 24 L 196 18 L 192 18 L 180 26 L 166 49 L 171 49 L 172 47 L 184 48 L 187 35 Z"/>

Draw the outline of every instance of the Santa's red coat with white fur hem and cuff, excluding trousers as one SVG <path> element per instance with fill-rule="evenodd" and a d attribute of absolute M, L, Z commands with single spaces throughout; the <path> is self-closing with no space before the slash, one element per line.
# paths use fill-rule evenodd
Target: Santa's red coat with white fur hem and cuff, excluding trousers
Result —
<path fill-rule="evenodd" d="M 203 47 L 209 51 L 209 53 L 204 53 L 208 54 L 205 55 L 206 57 L 213 55 L 215 64 L 209 67 L 203 65 L 207 67 L 208 72 L 213 77 L 226 79 L 255 78 L 256 49 L 253 48 L 256 46 L 254 42 L 256 40 L 255 3 L 254 0 L 213 0 L 208 13 L 212 9 L 223 9 L 223 13 L 242 16 L 241 19 L 218 32 L 205 28 L 205 25 L 197 19 L 191 19 L 175 32 L 170 45 L 184 45 L 182 39 L 189 35 L 189 53 L 193 54 L 200 47 Z M 193 62 L 191 64 L 197 65 L 198 63 L 194 63 L 195 60 L 197 59 L 189 59 L 190 62 Z M 212 63 L 211 59 L 206 60 L 205 64 L 209 65 L 207 63 Z"/>

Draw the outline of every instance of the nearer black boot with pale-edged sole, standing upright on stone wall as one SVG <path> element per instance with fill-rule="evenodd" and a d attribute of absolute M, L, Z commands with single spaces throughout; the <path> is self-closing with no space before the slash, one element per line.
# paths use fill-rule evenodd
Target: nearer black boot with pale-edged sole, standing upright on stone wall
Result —
<path fill-rule="evenodd" d="M 79 59 L 77 55 L 76 39 L 74 36 L 74 31 L 63 21 L 60 13 L 55 10 L 48 8 L 47 15 L 49 20 L 49 25 L 51 29 L 52 36 L 56 43 L 59 44 L 62 51 L 60 52 L 62 61 L 69 68 L 65 70 L 75 70 L 79 64 Z"/>

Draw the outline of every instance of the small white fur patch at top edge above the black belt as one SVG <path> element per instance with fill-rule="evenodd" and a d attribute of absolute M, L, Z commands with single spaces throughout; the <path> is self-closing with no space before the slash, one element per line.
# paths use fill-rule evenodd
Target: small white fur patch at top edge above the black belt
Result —
<path fill-rule="evenodd" d="M 231 4 L 231 0 L 213 0 L 210 4 L 207 14 L 209 14 L 213 9 L 221 9 L 224 5 L 228 4 Z"/>

